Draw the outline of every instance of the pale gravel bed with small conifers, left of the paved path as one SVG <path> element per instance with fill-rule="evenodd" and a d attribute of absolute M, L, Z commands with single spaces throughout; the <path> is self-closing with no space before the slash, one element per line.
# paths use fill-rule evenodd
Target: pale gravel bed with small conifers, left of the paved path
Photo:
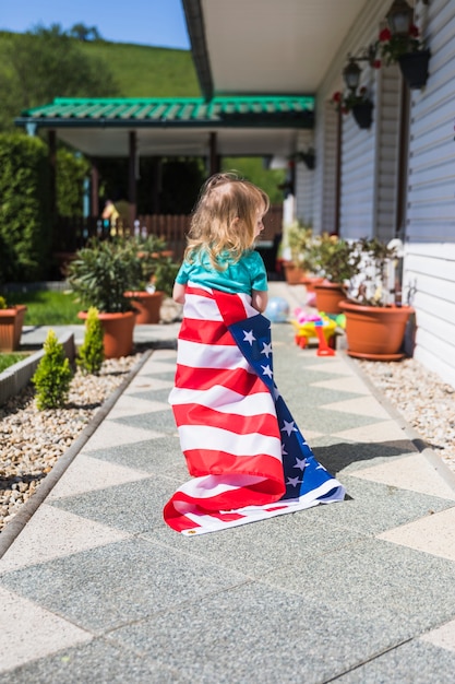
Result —
<path fill-rule="evenodd" d="M 0 406 L 0 531 L 141 356 L 107 359 L 99 376 L 77 369 L 63 409 L 38 411 L 33 386 Z"/>

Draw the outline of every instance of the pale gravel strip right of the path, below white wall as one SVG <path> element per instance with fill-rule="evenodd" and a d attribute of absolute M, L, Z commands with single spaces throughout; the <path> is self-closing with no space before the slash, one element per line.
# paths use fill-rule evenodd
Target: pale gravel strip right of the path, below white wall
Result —
<path fill-rule="evenodd" d="M 455 473 L 455 388 L 415 358 L 356 363 Z"/>

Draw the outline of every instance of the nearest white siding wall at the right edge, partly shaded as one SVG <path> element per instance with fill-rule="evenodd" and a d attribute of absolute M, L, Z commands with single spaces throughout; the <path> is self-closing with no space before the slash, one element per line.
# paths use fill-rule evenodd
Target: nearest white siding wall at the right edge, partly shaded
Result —
<path fill-rule="evenodd" d="M 420 22 L 432 56 L 426 89 L 412 91 L 404 283 L 415 356 L 455 387 L 455 2 L 432 0 Z"/>

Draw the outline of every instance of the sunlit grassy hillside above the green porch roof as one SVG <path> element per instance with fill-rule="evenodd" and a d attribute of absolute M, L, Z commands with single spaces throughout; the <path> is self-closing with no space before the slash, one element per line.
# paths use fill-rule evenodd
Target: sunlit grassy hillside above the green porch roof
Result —
<path fill-rule="evenodd" d="M 127 43 L 81 43 L 107 62 L 121 97 L 197 97 L 201 94 L 189 50 Z"/>

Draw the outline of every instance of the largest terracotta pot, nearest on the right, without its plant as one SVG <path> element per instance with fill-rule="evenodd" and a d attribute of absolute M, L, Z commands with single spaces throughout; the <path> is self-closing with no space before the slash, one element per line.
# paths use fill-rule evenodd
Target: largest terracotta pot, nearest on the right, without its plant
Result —
<path fill-rule="evenodd" d="M 370 361 L 398 361 L 410 306 L 361 306 L 340 302 L 346 314 L 348 354 Z"/>

